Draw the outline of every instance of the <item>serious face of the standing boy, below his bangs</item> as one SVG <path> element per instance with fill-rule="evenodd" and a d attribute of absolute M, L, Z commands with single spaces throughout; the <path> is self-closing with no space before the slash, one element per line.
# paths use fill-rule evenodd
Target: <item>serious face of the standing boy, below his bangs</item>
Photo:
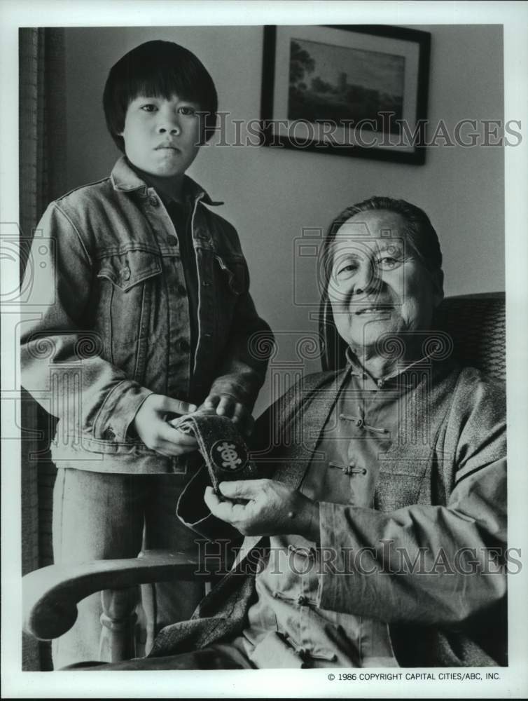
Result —
<path fill-rule="evenodd" d="M 125 128 L 127 158 L 136 168 L 158 177 L 183 175 L 200 149 L 201 119 L 197 102 L 174 94 L 138 95 L 130 102 Z"/>

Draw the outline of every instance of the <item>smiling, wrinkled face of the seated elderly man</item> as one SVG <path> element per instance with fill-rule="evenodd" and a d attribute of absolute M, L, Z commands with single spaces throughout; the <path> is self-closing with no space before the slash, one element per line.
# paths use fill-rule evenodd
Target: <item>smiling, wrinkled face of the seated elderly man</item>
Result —
<path fill-rule="evenodd" d="M 407 245 L 400 215 L 360 212 L 333 243 L 328 297 L 340 336 L 368 349 L 384 334 L 429 328 L 443 299 L 442 278 Z"/>

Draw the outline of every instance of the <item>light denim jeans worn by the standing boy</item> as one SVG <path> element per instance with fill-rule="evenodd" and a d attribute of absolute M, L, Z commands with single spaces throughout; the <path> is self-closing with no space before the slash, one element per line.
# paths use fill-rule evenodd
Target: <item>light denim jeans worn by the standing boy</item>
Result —
<path fill-rule="evenodd" d="M 196 533 L 176 518 L 176 501 L 190 475 L 124 475 L 62 466 L 53 493 L 55 563 L 137 557 L 148 549 L 197 548 Z M 200 582 L 155 585 L 155 630 L 190 618 L 204 594 Z M 53 641 L 53 665 L 60 669 L 99 659 L 101 595 L 78 604 L 78 618 Z"/>

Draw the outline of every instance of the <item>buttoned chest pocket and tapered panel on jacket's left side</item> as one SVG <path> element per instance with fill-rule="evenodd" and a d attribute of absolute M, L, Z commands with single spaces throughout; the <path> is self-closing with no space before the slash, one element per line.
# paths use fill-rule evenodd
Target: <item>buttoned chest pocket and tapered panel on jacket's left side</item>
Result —
<path fill-rule="evenodd" d="M 102 256 L 96 325 L 102 327 L 110 362 L 141 383 L 162 260 L 146 250 Z"/>

